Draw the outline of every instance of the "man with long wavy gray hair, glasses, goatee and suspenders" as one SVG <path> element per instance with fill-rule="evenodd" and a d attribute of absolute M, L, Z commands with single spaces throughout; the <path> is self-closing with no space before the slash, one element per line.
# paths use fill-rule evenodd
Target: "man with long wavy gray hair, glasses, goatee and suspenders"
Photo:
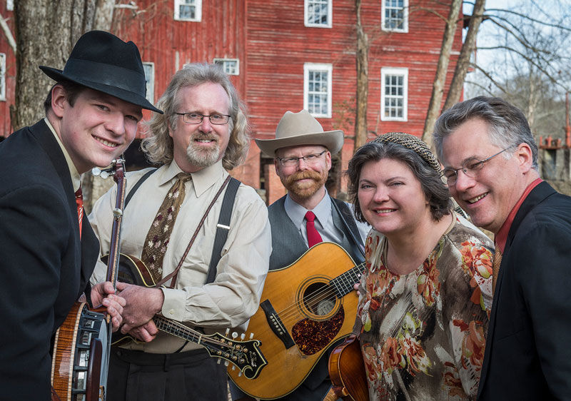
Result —
<path fill-rule="evenodd" d="M 271 253 L 266 205 L 253 188 L 240 184 L 226 226 L 217 223 L 231 184 L 212 204 L 227 170 L 246 157 L 248 123 L 236 89 L 216 65 L 185 66 L 158 104 L 164 115 L 153 115 L 142 148 L 162 166 L 127 175 L 127 198 L 141 185 L 123 213 L 121 252 L 140 258 L 155 282 L 176 273 L 174 282 L 168 278 L 160 288 L 118 283 L 128 304 L 121 333 L 143 342 L 112 347 L 108 400 L 226 401 L 226 366 L 200 345 L 159 332 L 152 318 L 161 313 L 207 333 L 224 333 L 241 328 L 258 310 Z M 101 255 L 110 246 L 113 199 L 115 190 L 89 216 Z M 217 226 L 227 239 L 215 254 Z M 96 266 L 93 283 L 103 280 L 103 266 Z M 216 273 L 213 280 L 209 271 Z"/>

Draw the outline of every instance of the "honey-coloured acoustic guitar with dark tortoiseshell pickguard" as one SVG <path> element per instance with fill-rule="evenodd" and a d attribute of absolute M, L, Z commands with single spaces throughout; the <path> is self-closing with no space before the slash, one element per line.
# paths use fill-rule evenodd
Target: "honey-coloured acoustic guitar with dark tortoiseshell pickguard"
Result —
<path fill-rule="evenodd" d="M 228 367 L 231 380 L 262 400 L 295 390 L 333 342 L 351 333 L 358 304 L 353 285 L 363 269 L 339 245 L 324 242 L 292 265 L 271 270 L 248 325 L 268 365 L 253 380 Z"/>

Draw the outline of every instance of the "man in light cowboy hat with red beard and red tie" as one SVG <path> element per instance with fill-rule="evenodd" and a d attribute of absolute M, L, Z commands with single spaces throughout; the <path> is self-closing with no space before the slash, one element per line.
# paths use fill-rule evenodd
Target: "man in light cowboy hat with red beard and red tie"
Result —
<path fill-rule="evenodd" d="M 273 156 L 276 173 L 288 190 L 268 207 L 272 230 L 270 270 L 291 265 L 322 240 L 337 243 L 356 263 L 362 262 L 369 226 L 356 222 L 348 204 L 331 198 L 325 189 L 331 154 L 343 147 L 343 131 L 323 131 L 306 110 L 286 111 L 276 128 L 276 138 L 256 139 L 256 144 L 263 153 Z M 303 384 L 283 400 L 321 400 L 331 387 L 327 364 L 328 353 Z"/>

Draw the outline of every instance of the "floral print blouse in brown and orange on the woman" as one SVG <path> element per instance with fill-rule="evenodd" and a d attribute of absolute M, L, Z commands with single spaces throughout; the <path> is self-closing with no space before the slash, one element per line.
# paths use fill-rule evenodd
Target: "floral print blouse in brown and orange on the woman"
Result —
<path fill-rule="evenodd" d="M 455 215 L 423 265 L 385 268 L 371 230 L 357 319 L 370 400 L 475 400 L 492 305 L 493 243 Z"/>

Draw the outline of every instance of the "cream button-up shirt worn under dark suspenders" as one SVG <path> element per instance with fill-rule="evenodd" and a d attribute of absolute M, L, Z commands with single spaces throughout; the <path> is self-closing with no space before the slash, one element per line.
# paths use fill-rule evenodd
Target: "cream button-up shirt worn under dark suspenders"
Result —
<path fill-rule="evenodd" d="M 126 193 L 148 170 L 128 173 Z M 143 243 L 157 210 L 181 172 L 175 162 L 158 168 L 138 188 L 125 208 L 121 230 L 121 253 L 141 258 Z M 163 277 L 178 265 L 191 237 L 228 172 L 218 162 L 192 173 L 186 183 L 186 196 L 176 218 L 163 261 Z M 226 191 L 226 190 L 225 190 Z M 260 303 L 263 283 L 268 273 L 271 253 L 271 230 L 268 210 L 253 188 L 241 185 L 233 205 L 228 239 L 218 262 L 213 283 L 205 285 L 224 193 L 216 200 L 203 227 L 178 272 L 176 288 L 163 289 L 162 315 L 188 325 L 212 328 L 223 334 L 226 328 L 247 323 Z M 89 215 L 91 226 L 101 243 L 101 255 L 109 251 L 112 209 L 116 187 L 111 188 L 94 205 Z M 104 281 L 107 267 L 99 261 L 91 283 Z M 168 281 L 170 284 L 170 280 Z M 208 330 L 210 331 L 210 330 Z M 178 350 L 184 340 L 159 332 L 155 340 L 129 348 L 153 353 Z M 197 348 L 189 343 L 184 350 Z"/>

